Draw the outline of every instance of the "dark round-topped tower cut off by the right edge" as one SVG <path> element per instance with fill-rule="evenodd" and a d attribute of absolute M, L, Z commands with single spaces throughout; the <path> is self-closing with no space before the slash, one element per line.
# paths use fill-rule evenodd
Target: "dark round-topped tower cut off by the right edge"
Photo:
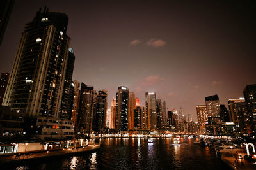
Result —
<path fill-rule="evenodd" d="M 246 85 L 244 98 L 252 121 L 252 133 L 256 134 L 256 85 Z"/>

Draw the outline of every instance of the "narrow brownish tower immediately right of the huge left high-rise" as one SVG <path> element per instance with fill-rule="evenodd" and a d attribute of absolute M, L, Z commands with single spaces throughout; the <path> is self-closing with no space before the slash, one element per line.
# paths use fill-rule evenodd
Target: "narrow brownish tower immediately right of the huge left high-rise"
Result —
<path fill-rule="evenodd" d="M 72 118 L 73 125 L 77 126 L 77 115 L 79 110 L 79 99 L 80 99 L 80 83 L 74 80 L 74 99 L 73 99 L 73 110 Z"/>

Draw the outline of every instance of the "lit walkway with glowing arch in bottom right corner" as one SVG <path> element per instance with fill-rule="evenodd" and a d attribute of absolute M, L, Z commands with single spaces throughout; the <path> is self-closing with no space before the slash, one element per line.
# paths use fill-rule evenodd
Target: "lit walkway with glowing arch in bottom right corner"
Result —
<path fill-rule="evenodd" d="M 244 156 L 244 154 L 243 154 L 243 156 Z M 256 169 L 256 164 L 248 162 L 244 158 L 236 159 L 234 157 L 234 155 L 230 155 L 228 153 L 223 153 L 221 155 L 221 160 L 223 160 L 223 162 L 225 162 L 225 164 L 230 166 L 232 169 L 241 169 L 241 170 Z M 236 162 L 235 162 L 235 160 L 236 160 Z"/>

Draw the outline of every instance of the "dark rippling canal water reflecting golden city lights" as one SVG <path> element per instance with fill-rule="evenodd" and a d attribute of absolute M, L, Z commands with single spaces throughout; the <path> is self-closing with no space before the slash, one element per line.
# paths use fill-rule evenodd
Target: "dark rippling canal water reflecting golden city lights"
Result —
<path fill-rule="evenodd" d="M 173 138 L 100 139 L 97 152 L 68 157 L 8 164 L 4 169 L 229 169 L 210 148 L 193 143 L 195 139 Z"/>

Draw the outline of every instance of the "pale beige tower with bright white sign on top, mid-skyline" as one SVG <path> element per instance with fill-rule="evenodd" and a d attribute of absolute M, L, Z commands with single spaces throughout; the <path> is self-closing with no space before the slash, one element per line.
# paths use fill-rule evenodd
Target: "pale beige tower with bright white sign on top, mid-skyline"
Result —
<path fill-rule="evenodd" d="M 146 128 L 157 129 L 156 93 L 146 92 Z"/>

